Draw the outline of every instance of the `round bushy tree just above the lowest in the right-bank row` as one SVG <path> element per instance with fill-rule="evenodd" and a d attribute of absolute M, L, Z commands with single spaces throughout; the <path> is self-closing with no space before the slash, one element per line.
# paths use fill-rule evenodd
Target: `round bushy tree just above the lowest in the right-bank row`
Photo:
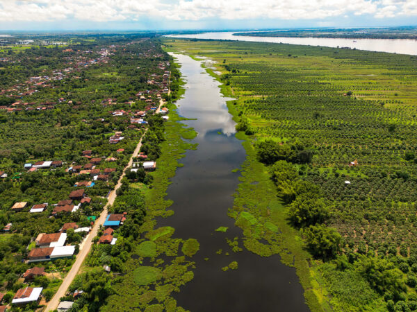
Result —
<path fill-rule="evenodd" d="M 308 227 L 323 223 L 329 217 L 329 208 L 322 198 L 311 198 L 309 194 L 298 196 L 289 205 L 288 218 L 296 227 Z"/>

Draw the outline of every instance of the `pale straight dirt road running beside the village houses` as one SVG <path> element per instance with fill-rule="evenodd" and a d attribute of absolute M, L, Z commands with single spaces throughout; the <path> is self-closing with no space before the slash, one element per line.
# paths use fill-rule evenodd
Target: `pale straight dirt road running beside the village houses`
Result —
<path fill-rule="evenodd" d="M 161 106 L 163 105 L 163 100 L 159 101 L 159 106 L 156 112 L 159 112 L 161 110 Z M 94 227 L 92 227 L 92 230 L 90 234 L 88 234 L 87 238 L 85 239 L 83 243 L 83 249 L 80 250 L 79 254 L 76 255 L 76 260 L 74 264 L 72 265 L 72 268 L 70 272 L 68 272 L 67 276 L 63 279 L 63 284 L 60 284 L 60 287 L 58 288 L 58 291 L 52 297 L 52 299 L 48 302 L 48 305 L 44 311 L 54 311 L 58 308 L 60 297 L 64 297 L 67 293 L 68 288 L 70 287 L 72 281 L 76 277 L 77 273 L 79 272 L 79 269 L 81 268 L 81 264 L 83 264 L 83 261 L 85 257 L 87 257 L 88 252 L 90 251 L 91 245 L 92 245 L 92 239 L 97 236 L 97 232 L 99 232 L 100 225 L 104 224 L 104 221 L 106 220 L 107 216 L 107 208 L 111 205 L 113 205 L 113 202 L 115 202 L 115 199 L 117 197 L 116 191 L 122 186 L 122 179 L 126 173 L 126 169 L 130 168 L 133 163 L 133 158 L 138 156 L 138 153 L 140 151 L 140 147 L 142 146 L 142 139 L 145 137 L 145 134 L 147 132 L 147 129 L 143 133 L 142 137 L 140 138 L 140 141 L 138 145 L 136 146 L 135 150 L 133 151 L 133 154 L 131 158 L 129 159 L 129 162 L 126 167 L 123 169 L 122 175 L 120 175 L 119 180 L 117 181 L 117 184 L 115 188 L 110 192 L 108 196 L 108 202 L 106 206 L 104 206 L 103 211 L 101 212 L 99 218 L 96 220 Z"/>

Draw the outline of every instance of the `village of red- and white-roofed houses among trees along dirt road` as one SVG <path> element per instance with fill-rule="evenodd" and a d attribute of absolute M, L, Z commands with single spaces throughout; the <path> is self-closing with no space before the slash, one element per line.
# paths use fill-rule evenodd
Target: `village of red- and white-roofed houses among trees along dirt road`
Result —
<path fill-rule="evenodd" d="M 125 46 L 134 44 L 131 42 Z M 14 85 L 0 89 L 0 99 L 3 99 L 0 103 L 6 101 L 6 105 L 0 105 L 0 114 L 1 111 L 6 112 L 6 118 L 12 114 L 44 114 L 48 110 L 63 110 L 62 107 L 67 107 L 65 110 L 69 112 L 81 111 L 81 123 L 88 126 L 97 124 L 106 130 L 100 134 L 104 138 L 102 145 L 85 146 L 90 149 L 80 150 L 78 155 L 72 156 L 72 161 L 61 153 L 64 157 L 26 157 L 19 161 L 18 166 L 0 168 L 1 182 L 8 185 L 12 183 L 10 185 L 17 187 L 26 180 L 42 177 L 57 176 L 72 182 L 72 187 L 64 188 L 68 190 L 66 196 L 63 189 L 60 198 L 50 196 L 56 200 L 33 200 L 26 199 L 28 196 L 20 196 L 8 209 L 3 206 L 9 217 L 5 219 L 5 224 L 0 223 L 0 242 L 24 231 L 25 225 L 19 219 L 42 218 L 51 226 L 46 227 L 49 229 L 47 231 L 42 231 L 42 226 L 39 231 L 34 231 L 38 233 L 31 236 L 24 248 L 21 261 L 24 264 L 22 268 L 26 269 L 13 279 L 10 276 L 10 280 L 15 280 L 19 288 L 10 288 L 10 284 L 6 284 L 7 288 L 2 291 L 0 287 L 0 311 L 45 305 L 68 272 L 78 271 L 79 267 L 75 267 L 79 265 L 76 259 L 81 259 L 82 263 L 92 244 L 115 245 L 118 229 L 124 225 L 129 214 L 127 211 L 110 213 L 106 208 L 114 202 L 125 171 L 131 174 L 142 171 L 147 175 L 157 170 L 155 157 L 142 152 L 140 146 L 147 132 L 149 118 L 165 121 L 169 118 L 167 107 L 162 105 L 163 98 L 169 94 L 170 71 L 167 69 L 170 68 L 170 62 L 158 62 L 156 67 L 161 73 L 149 74 L 145 81 L 147 88 L 136 91 L 122 102 L 114 97 L 101 101 L 92 99 L 89 102 L 75 101 L 71 96 L 60 97 L 55 101 L 42 100 L 42 94 L 47 89 L 59 89 L 65 82 L 82 80 L 83 72 L 88 71 L 89 67 L 108 66 L 113 55 L 123 47 L 111 45 L 99 51 L 63 49 L 60 52 L 65 55 L 62 69 L 43 69 L 42 76 L 31 76 L 22 83 L 16 81 Z M 161 58 L 162 54 L 148 50 L 140 53 L 140 58 Z M 17 56 L 0 60 L 3 63 L 20 62 Z M 84 80 L 88 83 L 88 79 Z M 82 111 L 88 110 L 89 105 L 101 107 L 102 117 L 93 120 L 86 118 Z M 106 107 L 115 109 L 108 111 Z M 116 128 L 111 128 L 111 125 Z M 103 270 L 110 272 L 111 267 L 104 266 Z M 82 293 L 75 291 L 70 295 L 75 301 Z M 72 301 L 60 302 L 58 311 L 66 311 L 70 306 Z"/>

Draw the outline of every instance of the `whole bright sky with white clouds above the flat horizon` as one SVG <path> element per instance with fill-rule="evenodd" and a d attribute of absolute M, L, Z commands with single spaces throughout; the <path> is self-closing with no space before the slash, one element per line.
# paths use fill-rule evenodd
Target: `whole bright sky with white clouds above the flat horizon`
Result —
<path fill-rule="evenodd" d="M 416 25 L 417 0 L 0 0 L 0 31 Z"/>

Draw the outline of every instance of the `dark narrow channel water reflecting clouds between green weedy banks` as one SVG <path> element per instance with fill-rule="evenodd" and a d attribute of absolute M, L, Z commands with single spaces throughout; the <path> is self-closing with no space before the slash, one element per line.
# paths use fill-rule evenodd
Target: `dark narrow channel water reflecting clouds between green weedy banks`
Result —
<path fill-rule="evenodd" d="M 234 136 L 234 121 L 220 94 L 219 83 L 204 72 L 201 62 L 186 55 L 174 55 L 186 78 L 186 94 L 177 102 L 179 114 L 197 120 L 186 121 L 198 132 L 181 159 L 167 190 L 174 201 L 174 216 L 158 220 L 158 225 L 175 228 L 174 237 L 194 238 L 200 250 L 193 257 L 195 278 L 174 294 L 177 304 L 190 311 L 309 311 L 295 269 L 284 266 L 278 256 L 259 257 L 231 251 L 225 238 L 241 236 L 227 216 L 233 205 L 239 173 L 232 173 L 245 160 L 245 150 Z M 221 132 L 221 134 L 219 134 Z M 226 233 L 215 229 L 229 227 Z M 222 254 L 216 251 L 222 249 Z M 229 256 L 225 255 L 229 252 Z M 209 258 L 207 261 L 204 258 Z M 238 261 L 238 270 L 222 267 Z"/>

